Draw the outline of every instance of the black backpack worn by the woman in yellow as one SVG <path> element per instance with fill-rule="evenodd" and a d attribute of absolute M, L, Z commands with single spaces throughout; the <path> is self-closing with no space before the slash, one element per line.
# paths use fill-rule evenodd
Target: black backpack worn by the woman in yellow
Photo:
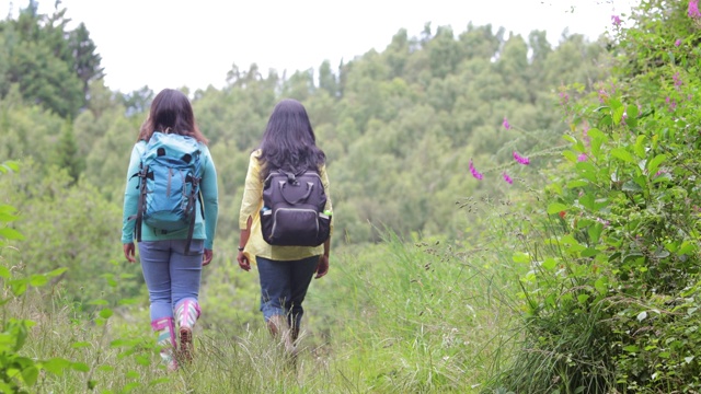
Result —
<path fill-rule="evenodd" d="M 271 172 L 263 186 L 261 230 L 277 246 L 319 246 L 329 239 L 331 212 L 318 173 Z"/>

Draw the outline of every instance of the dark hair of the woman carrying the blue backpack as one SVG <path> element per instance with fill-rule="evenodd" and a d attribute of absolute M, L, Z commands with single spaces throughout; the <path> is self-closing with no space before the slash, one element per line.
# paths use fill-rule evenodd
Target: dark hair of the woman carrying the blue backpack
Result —
<path fill-rule="evenodd" d="M 197 128 L 193 106 L 187 96 L 173 89 L 163 89 L 151 103 L 149 117 L 141 125 L 137 141 L 148 141 L 153 131 L 189 136 L 207 143 L 207 139 Z"/>

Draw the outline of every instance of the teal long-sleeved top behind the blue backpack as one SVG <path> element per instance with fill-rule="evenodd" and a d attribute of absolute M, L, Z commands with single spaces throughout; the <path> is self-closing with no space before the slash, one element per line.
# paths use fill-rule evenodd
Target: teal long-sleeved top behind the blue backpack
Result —
<path fill-rule="evenodd" d="M 205 248 L 211 250 L 214 246 L 215 232 L 217 229 L 217 215 L 219 213 L 219 197 L 217 190 L 217 170 L 215 162 L 211 160 L 209 149 L 204 143 L 199 143 L 202 148 L 202 181 L 199 188 L 202 190 L 202 200 L 205 205 L 205 218 L 202 217 L 200 202 L 197 201 L 197 220 L 195 221 L 195 232 L 193 240 L 205 240 Z M 139 141 L 131 150 L 131 159 L 129 160 L 129 170 L 127 171 L 127 187 L 124 192 L 124 212 L 122 217 L 122 243 L 134 242 L 134 224 L 135 220 L 129 220 L 137 212 L 139 204 L 139 177 L 131 176 L 139 172 L 141 162 L 141 153 L 146 150 L 146 141 Z M 206 220 L 205 220 L 206 219 Z M 187 229 L 171 231 L 165 234 L 156 229 L 141 224 L 141 241 L 162 241 L 162 240 L 185 240 L 187 237 Z"/>

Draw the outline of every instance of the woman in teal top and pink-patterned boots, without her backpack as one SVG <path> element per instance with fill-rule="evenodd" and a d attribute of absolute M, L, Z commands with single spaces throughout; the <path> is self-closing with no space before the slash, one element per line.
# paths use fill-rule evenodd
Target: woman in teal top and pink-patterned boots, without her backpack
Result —
<path fill-rule="evenodd" d="M 149 290 L 151 327 L 159 333 L 161 357 L 169 370 L 177 369 L 175 352 L 192 357 L 192 332 L 200 315 L 198 294 L 202 267 L 211 262 L 215 230 L 217 228 L 218 192 L 217 170 L 207 148 L 207 139 L 197 128 L 189 100 L 180 91 L 165 89 L 151 104 L 149 117 L 141 127 L 127 171 L 124 194 L 122 243 L 124 255 L 135 263 L 135 221 L 140 197 L 139 176 L 141 154 L 156 131 L 188 136 L 197 140 L 200 150 L 202 205 L 196 204 L 196 221 L 189 252 L 188 231 L 159 231 L 142 222 L 139 242 L 139 259 L 143 279 Z M 205 213 L 203 217 L 203 212 Z M 206 218 L 206 220 L 205 220 Z M 175 332 L 177 324 L 179 333 Z M 180 334 L 180 336 L 177 335 Z M 179 340 L 180 339 L 180 340 Z"/>

